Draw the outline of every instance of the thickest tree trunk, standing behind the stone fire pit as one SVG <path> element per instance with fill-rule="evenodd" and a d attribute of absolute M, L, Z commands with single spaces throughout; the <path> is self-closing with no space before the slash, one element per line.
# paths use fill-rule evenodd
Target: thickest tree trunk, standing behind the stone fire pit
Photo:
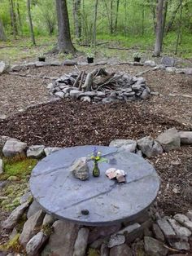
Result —
<path fill-rule="evenodd" d="M 76 49 L 72 44 L 66 0 L 56 0 L 56 11 L 58 18 L 58 50 L 59 52 L 75 53 Z"/>

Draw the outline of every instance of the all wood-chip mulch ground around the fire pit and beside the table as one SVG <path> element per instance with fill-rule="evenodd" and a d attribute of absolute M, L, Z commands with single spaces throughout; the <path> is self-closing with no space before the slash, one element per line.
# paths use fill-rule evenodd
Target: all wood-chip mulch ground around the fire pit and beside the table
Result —
<path fill-rule="evenodd" d="M 148 69 L 129 64 L 100 67 L 131 75 Z M 78 68 L 94 69 L 91 65 Z M 46 66 L 24 69 L 20 74 L 60 77 L 74 70 L 74 67 Z M 28 108 L 31 104 L 50 100 L 46 86 L 51 81 L 3 74 L 0 76 L 0 115 L 9 117 L 0 121 L 0 135 L 21 139 L 28 145 L 42 143 L 52 147 L 70 147 L 87 143 L 108 145 L 112 139 L 140 139 L 146 135 L 156 137 L 172 127 L 192 130 L 192 76 L 157 70 L 143 77 L 151 90 L 158 91 L 160 95 L 128 104 L 96 105 L 64 99 Z M 191 209 L 191 156 L 192 147 L 182 146 L 148 160 L 161 179 L 157 201 L 166 214 Z M 177 188 L 177 193 L 174 188 Z M 2 213 L 2 218 L 6 215 Z"/>

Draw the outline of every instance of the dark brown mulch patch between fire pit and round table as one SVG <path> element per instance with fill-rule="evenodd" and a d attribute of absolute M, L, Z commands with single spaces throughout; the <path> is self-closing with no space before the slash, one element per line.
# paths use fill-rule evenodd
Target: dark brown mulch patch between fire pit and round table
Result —
<path fill-rule="evenodd" d="M 184 128 L 177 121 L 151 113 L 142 102 L 96 105 L 65 100 L 29 108 L 0 122 L 0 134 L 28 144 L 71 147 L 139 139 L 172 126 Z"/>

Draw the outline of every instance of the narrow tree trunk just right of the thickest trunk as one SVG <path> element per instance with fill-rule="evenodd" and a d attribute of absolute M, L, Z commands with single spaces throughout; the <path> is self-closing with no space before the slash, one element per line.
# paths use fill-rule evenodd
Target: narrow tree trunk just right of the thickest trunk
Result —
<path fill-rule="evenodd" d="M 81 0 L 73 0 L 72 9 L 76 38 L 81 38 Z"/>

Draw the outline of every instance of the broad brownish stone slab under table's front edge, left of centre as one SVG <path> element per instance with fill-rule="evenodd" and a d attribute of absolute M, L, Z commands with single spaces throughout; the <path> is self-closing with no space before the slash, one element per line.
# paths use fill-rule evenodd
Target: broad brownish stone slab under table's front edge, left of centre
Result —
<path fill-rule="evenodd" d="M 72 222 L 58 220 L 53 224 L 54 232 L 41 256 L 72 256 L 79 226 Z"/>

